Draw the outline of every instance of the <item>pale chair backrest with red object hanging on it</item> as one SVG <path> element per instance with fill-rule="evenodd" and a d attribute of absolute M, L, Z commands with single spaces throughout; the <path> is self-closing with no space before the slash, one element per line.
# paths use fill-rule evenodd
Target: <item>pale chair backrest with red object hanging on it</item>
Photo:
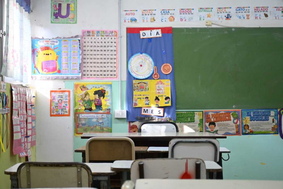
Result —
<path fill-rule="evenodd" d="M 198 158 L 140 159 L 132 163 L 131 180 L 136 179 L 206 179 L 203 160 Z M 177 186 L 176 186 L 177 187 Z"/>

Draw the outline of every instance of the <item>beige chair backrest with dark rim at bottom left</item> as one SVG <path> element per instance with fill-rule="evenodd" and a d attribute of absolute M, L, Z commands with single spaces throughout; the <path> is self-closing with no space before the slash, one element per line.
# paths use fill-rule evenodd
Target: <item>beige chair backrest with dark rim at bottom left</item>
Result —
<path fill-rule="evenodd" d="M 91 169 L 78 162 L 25 162 L 17 170 L 19 188 L 91 187 Z"/>

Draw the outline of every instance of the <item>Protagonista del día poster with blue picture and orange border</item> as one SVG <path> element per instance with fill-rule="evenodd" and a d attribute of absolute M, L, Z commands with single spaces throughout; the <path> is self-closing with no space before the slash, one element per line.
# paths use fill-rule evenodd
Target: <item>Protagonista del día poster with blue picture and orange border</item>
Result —
<path fill-rule="evenodd" d="M 103 112 L 76 112 L 76 134 L 111 133 L 111 114 Z"/>

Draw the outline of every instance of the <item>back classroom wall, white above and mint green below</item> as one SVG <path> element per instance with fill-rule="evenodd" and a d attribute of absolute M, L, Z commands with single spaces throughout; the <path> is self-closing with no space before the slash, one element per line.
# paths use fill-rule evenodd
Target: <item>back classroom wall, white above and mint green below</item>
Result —
<path fill-rule="evenodd" d="M 50 24 L 50 1 L 46 0 L 31 0 L 33 12 L 31 13 L 31 29 L 32 37 L 71 37 L 80 35 L 82 29 L 118 29 L 118 1 L 117 0 L 95 0 L 95 1 L 78 1 L 77 14 L 78 24 Z M 169 9 L 169 8 L 190 8 L 190 7 L 216 7 L 216 6 L 282 6 L 282 0 L 274 0 L 266 2 L 263 0 L 239 0 L 239 1 L 224 1 L 224 0 L 198 0 L 198 1 L 132 1 L 122 0 L 122 10 L 126 9 Z M 215 22 L 226 26 L 240 26 L 240 27 L 282 27 L 281 20 L 248 20 L 248 21 L 223 21 Z M 190 23 L 126 23 L 122 24 L 122 109 L 125 108 L 125 86 L 127 74 L 127 60 L 126 60 L 126 27 L 206 27 L 204 22 L 190 22 Z M 212 26 L 218 27 L 218 26 Z M 42 83 L 42 84 L 41 84 Z M 48 81 L 32 81 L 31 86 L 40 86 L 39 99 L 41 109 L 37 109 L 37 125 L 40 124 L 38 130 L 37 140 L 41 143 L 52 143 L 56 141 L 56 148 L 50 145 L 37 146 L 37 160 L 38 159 L 52 159 L 60 157 L 58 160 L 81 161 L 81 154 L 74 153 L 74 148 L 85 145 L 86 140 L 80 137 L 74 138 L 74 146 L 71 140 L 64 140 L 64 136 L 70 133 L 73 134 L 73 129 L 70 131 L 69 127 L 74 127 L 74 118 L 68 117 L 64 122 L 54 122 L 53 118 L 45 118 L 46 112 L 49 111 L 48 90 L 56 88 L 68 88 L 73 90 L 73 81 L 64 80 L 48 80 Z M 113 110 L 118 109 L 119 103 L 119 82 L 113 82 Z M 225 107 L 223 107 L 225 108 Z M 48 109 L 48 110 L 47 110 Z M 41 121 L 43 120 L 43 121 Z M 62 127 L 65 128 L 62 129 Z M 61 129 L 58 129 L 61 128 Z M 68 129 L 67 129 L 68 128 Z M 128 123 L 125 119 L 116 119 L 112 116 L 113 132 L 127 132 Z M 51 132 L 52 131 L 52 132 Z M 48 133 L 48 137 L 46 137 Z M 58 140 L 58 137 L 61 140 Z M 40 139 L 41 138 L 41 139 Z M 224 178 L 225 179 L 270 179 L 283 180 L 279 168 L 282 167 L 283 152 L 276 151 L 279 146 L 282 146 L 283 140 L 278 135 L 256 135 L 256 136 L 229 136 L 227 139 L 221 139 L 220 145 L 229 148 L 232 152 L 230 160 L 223 162 Z M 40 150 L 39 150 L 40 148 Z M 59 148 L 59 149 L 57 149 Z M 60 151 L 64 148 L 66 151 Z M 55 151 L 54 151 L 55 150 Z M 49 152 L 49 153 L 45 153 Z M 72 155 L 70 153 L 72 152 Z M 226 158 L 226 155 L 224 155 Z"/>

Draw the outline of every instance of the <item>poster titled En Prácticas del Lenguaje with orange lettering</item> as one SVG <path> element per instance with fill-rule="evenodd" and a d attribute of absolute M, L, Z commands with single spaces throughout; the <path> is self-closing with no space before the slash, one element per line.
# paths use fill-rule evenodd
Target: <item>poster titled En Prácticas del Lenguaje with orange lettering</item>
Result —
<path fill-rule="evenodd" d="M 205 132 L 219 135 L 241 135 L 241 110 L 206 110 Z"/>

